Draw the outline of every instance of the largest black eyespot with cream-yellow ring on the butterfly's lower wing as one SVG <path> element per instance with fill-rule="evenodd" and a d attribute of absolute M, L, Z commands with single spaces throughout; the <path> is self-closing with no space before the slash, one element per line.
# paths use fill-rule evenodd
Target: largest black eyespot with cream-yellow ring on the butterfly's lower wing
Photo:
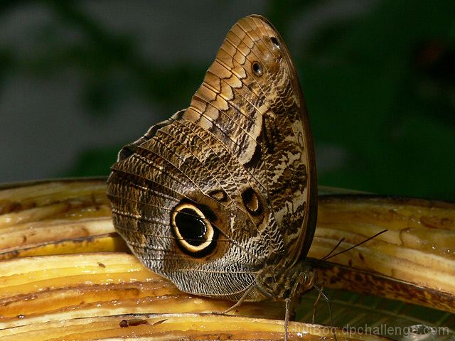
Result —
<path fill-rule="evenodd" d="M 218 231 L 191 202 L 183 202 L 174 208 L 171 229 L 178 247 L 190 256 L 206 256 L 215 249 Z"/>

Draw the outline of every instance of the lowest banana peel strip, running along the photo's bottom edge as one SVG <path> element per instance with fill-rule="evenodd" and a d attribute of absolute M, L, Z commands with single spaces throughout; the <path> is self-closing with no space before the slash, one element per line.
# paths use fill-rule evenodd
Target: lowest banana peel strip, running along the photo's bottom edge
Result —
<path fill-rule="evenodd" d="M 63 325 L 65 328 L 62 328 Z M 49 321 L 7 330 L 8 340 L 284 340 L 282 321 L 205 314 L 135 314 Z M 289 323 L 288 340 L 321 340 L 330 328 Z M 340 340 L 389 340 L 337 330 Z M 0 337 L 1 339 L 1 337 Z"/>

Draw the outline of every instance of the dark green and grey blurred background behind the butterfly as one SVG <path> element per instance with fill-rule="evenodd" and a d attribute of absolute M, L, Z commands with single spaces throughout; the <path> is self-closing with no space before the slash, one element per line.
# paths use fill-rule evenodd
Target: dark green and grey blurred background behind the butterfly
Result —
<path fill-rule="evenodd" d="M 0 182 L 107 175 L 251 13 L 299 70 L 321 185 L 455 200 L 453 0 L 3 1 Z"/>

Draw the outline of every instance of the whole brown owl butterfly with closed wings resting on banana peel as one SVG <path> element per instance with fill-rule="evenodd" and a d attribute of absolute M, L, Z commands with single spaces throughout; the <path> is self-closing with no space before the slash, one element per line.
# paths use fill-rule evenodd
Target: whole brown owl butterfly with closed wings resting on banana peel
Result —
<path fill-rule="evenodd" d="M 262 16 L 232 27 L 190 107 L 122 148 L 108 183 L 119 234 L 181 291 L 261 301 L 314 285 L 310 123 L 289 51 Z"/>

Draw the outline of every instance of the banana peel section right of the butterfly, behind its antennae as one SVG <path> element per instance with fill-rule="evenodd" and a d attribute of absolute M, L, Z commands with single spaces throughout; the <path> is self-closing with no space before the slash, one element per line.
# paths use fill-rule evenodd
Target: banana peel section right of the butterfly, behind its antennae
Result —
<path fill-rule="evenodd" d="M 328 251 L 344 251 L 319 262 Z M 310 262 L 329 288 L 373 293 L 455 313 L 455 204 L 343 195 L 319 198 Z"/>

